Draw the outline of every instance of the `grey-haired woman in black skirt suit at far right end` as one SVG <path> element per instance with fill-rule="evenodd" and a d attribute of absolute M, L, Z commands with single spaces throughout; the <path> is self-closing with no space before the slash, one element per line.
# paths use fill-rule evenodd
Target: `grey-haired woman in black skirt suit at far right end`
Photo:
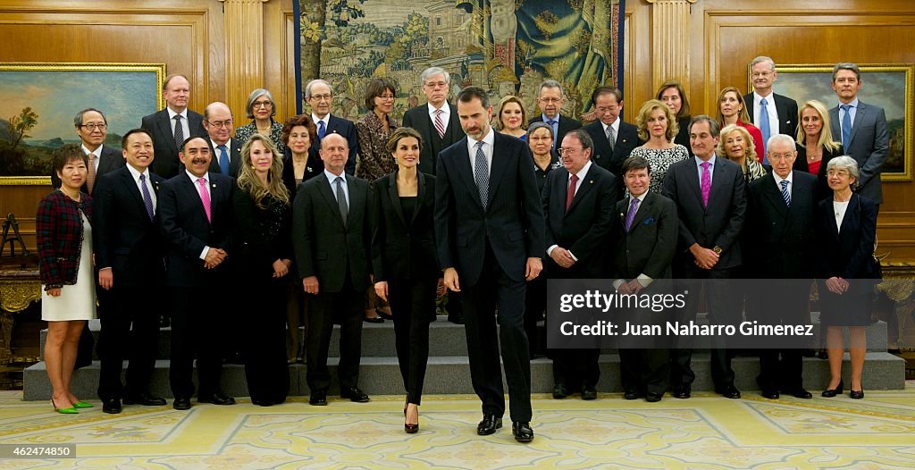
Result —
<path fill-rule="evenodd" d="M 820 202 L 817 215 L 820 324 L 826 327 L 826 352 L 832 379 L 823 397 L 842 393 L 842 327 L 848 326 L 852 377 L 850 396 L 864 398 L 861 371 L 867 352 L 865 328 L 870 325 L 873 279 L 879 277 L 874 258 L 877 205 L 852 192 L 858 167 L 854 158 L 837 156 L 826 166 L 831 198 Z"/>

